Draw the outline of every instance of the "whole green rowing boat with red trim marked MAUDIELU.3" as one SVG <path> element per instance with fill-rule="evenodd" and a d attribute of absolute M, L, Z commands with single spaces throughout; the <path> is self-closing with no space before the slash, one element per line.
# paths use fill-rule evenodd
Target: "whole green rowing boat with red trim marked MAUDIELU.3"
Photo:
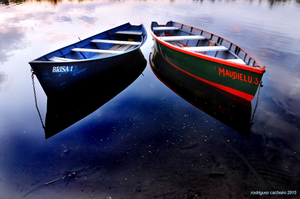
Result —
<path fill-rule="evenodd" d="M 234 43 L 177 22 L 151 22 L 155 49 L 170 64 L 203 82 L 251 101 L 265 67 Z"/>

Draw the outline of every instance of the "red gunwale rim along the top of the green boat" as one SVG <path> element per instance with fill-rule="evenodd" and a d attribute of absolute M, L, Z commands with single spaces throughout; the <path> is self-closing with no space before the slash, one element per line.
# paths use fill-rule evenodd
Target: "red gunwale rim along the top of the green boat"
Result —
<path fill-rule="evenodd" d="M 202 59 L 206 59 L 208 61 L 213 61 L 213 62 L 217 62 L 217 63 L 220 63 L 220 64 L 225 64 L 225 65 L 228 65 L 228 66 L 232 66 L 232 67 L 235 67 L 235 68 L 240 68 L 240 69 L 243 69 L 243 70 L 248 70 L 248 71 L 251 71 L 251 72 L 254 72 L 254 73 L 260 73 L 260 74 L 263 74 L 265 73 L 265 68 L 262 67 L 261 64 L 259 64 L 259 62 L 256 61 L 256 59 L 254 59 L 252 56 L 250 56 L 255 62 L 256 64 L 258 64 L 258 66 L 248 66 L 248 65 L 244 65 L 244 64 L 238 64 L 238 63 L 234 63 L 234 62 L 231 62 L 231 61 L 226 61 L 224 59 L 220 59 L 220 58 L 215 58 L 215 57 L 211 57 L 209 55 L 204 55 L 204 54 L 200 54 L 200 53 L 197 53 L 197 52 L 193 52 L 193 51 L 189 51 L 189 50 L 184 50 L 182 48 L 179 48 L 177 46 L 173 46 L 172 44 L 170 43 L 167 43 L 163 40 L 160 40 L 157 38 L 157 36 L 153 33 L 152 29 L 151 29 L 151 24 L 152 22 L 150 23 L 150 34 L 152 35 L 152 37 L 158 41 L 159 43 L 165 45 L 165 46 L 168 46 L 169 48 L 171 49 L 174 49 L 174 50 L 177 50 L 179 52 L 183 52 L 183 53 L 186 53 L 186 54 L 189 54 L 189 55 L 193 55 L 195 57 L 199 57 L 199 58 L 202 58 Z M 166 24 L 167 25 L 167 24 Z M 166 25 L 158 25 L 158 26 L 166 26 Z M 188 26 L 188 27 L 191 27 L 191 26 Z M 195 29 L 198 29 L 198 28 L 195 28 Z M 200 29 L 198 29 L 200 30 Z M 209 33 L 211 34 L 211 33 Z M 216 35 L 217 36 L 217 35 Z M 218 36 L 219 37 L 219 36 Z M 232 42 L 231 42 L 232 43 Z M 234 44 L 234 43 L 233 43 Z M 234 44 L 235 45 L 235 44 Z M 237 45 L 235 45 L 237 46 Z M 239 46 L 238 46 L 239 47 Z M 239 47 L 240 49 L 242 49 L 241 47 Z M 250 55 L 247 51 L 245 51 L 244 49 L 242 49 L 245 53 L 247 53 L 248 55 Z M 177 67 L 178 68 L 178 67 Z M 180 69 L 180 68 L 179 68 Z M 180 69 L 182 70 L 182 69 Z M 186 72 L 186 71 L 185 71 Z M 194 76 L 196 77 L 196 76 Z M 198 77 L 196 77 L 198 78 Z M 199 78 L 198 78 L 199 79 Z M 201 79 L 201 78 L 200 78 Z M 208 82 L 208 81 L 207 81 Z M 214 83 L 210 83 L 210 84 L 214 84 Z M 221 86 L 221 85 L 220 85 Z M 223 86 L 222 86 L 223 87 Z M 228 88 L 228 87 L 226 87 Z M 230 89 L 230 88 L 229 88 Z M 232 89 L 234 90 L 234 89 Z M 240 91 L 238 91 L 240 92 Z M 247 94 L 248 95 L 248 94 Z"/>

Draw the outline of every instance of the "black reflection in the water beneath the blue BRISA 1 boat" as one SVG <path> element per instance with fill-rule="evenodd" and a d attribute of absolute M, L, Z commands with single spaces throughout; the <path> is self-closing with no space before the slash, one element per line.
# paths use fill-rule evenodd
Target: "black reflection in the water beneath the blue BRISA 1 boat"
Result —
<path fill-rule="evenodd" d="M 49 95 L 45 138 L 68 128 L 113 99 L 142 74 L 146 65 L 147 60 L 139 49 L 129 61 L 118 67 L 81 82 L 74 88 Z"/>

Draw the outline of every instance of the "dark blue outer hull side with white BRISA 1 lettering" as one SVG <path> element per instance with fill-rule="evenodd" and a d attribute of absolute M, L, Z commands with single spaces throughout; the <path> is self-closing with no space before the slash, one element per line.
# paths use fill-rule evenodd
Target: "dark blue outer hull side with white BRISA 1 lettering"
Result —
<path fill-rule="evenodd" d="M 128 61 L 137 50 L 118 55 L 118 58 L 91 59 L 80 62 L 35 62 L 30 65 L 48 96 L 54 92 L 81 84 L 97 74 L 116 67 L 121 62 Z"/>

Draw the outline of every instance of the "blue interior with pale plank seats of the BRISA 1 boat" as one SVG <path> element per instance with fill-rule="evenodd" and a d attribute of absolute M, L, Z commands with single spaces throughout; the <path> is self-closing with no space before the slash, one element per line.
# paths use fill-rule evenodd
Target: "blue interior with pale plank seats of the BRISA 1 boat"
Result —
<path fill-rule="evenodd" d="M 145 33 L 141 31 L 140 27 L 131 25 L 114 33 L 106 31 L 80 40 L 49 53 L 37 61 L 79 61 L 101 58 L 134 49 L 143 43 L 143 37 L 145 37 Z"/>

